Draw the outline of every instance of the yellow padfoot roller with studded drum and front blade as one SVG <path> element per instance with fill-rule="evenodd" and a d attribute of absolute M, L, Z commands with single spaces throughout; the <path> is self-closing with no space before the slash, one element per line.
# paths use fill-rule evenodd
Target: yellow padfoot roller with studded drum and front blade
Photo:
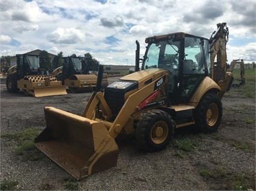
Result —
<path fill-rule="evenodd" d="M 66 95 L 66 86 L 53 75 L 44 74 L 40 68 L 40 56 L 17 54 L 17 65 L 7 71 L 6 87 L 8 92 L 19 90 L 34 97 Z"/>

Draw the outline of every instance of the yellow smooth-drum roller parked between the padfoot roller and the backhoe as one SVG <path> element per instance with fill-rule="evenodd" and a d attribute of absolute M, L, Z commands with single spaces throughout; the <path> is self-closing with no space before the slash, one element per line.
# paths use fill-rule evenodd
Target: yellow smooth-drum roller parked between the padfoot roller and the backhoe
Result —
<path fill-rule="evenodd" d="M 93 90 L 97 84 L 97 72 L 90 72 L 84 57 L 63 57 L 63 65 L 53 71 L 53 75 L 69 87 L 72 93 Z M 102 78 L 102 88 L 108 86 L 106 75 Z"/>

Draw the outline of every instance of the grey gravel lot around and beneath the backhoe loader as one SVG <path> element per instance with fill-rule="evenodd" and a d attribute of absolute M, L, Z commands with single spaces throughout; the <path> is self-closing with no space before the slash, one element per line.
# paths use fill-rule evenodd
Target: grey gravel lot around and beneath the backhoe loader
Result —
<path fill-rule="evenodd" d="M 134 137 L 117 140 L 117 166 L 81 181 L 37 148 L 16 154 L 17 141 L 2 136 L 27 128 L 42 131 L 44 106 L 80 115 L 90 95 L 33 98 L 8 93 L 1 84 L 1 189 L 15 181 L 16 190 L 255 190 L 255 99 L 239 93 L 222 99 L 218 132 L 203 135 L 180 129 L 169 147 L 156 153 L 139 150 Z M 31 154 L 41 154 L 41 159 L 30 160 Z"/>

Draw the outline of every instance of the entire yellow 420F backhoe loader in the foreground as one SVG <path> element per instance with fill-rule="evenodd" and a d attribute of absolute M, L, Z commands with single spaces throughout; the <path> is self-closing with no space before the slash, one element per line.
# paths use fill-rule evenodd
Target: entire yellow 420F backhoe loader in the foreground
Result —
<path fill-rule="evenodd" d="M 226 66 L 227 41 L 226 23 L 219 23 L 210 39 L 183 32 L 148 37 L 143 58 L 136 41 L 136 72 L 104 92 L 98 75 L 81 116 L 45 107 L 46 128 L 35 138 L 36 147 L 82 179 L 117 165 L 118 135 L 135 134 L 140 147 L 159 151 L 177 128 L 217 131 L 221 99 L 233 80 Z"/>

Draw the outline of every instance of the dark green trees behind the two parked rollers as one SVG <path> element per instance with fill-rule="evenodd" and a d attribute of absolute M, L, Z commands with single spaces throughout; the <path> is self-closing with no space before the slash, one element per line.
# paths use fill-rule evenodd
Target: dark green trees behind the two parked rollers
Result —
<path fill-rule="evenodd" d="M 50 55 L 46 50 L 43 50 L 39 53 L 40 56 L 40 68 L 43 69 L 55 69 L 59 66 L 62 66 L 63 60 L 63 52 L 60 51 L 53 60 L 50 60 Z M 91 71 L 97 71 L 99 68 L 100 62 L 95 59 L 90 53 L 85 53 L 84 56 L 76 56 L 76 54 L 70 55 L 72 57 L 84 57 L 84 59 L 87 61 L 88 68 Z M 1 56 L 1 66 L 10 66 L 11 65 L 11 59 L 15 56 Z"/>

